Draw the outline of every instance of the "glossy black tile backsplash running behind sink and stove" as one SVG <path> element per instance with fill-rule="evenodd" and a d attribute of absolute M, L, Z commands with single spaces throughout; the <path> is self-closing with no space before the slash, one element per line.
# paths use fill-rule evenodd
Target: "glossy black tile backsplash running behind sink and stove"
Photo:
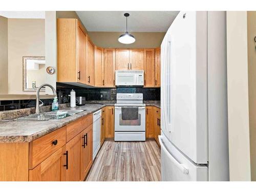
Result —
<path fill-rule="evenodd" d="M 74 89 L 76 96 L 86 97 L 92 100 L 116 100 L 117 93 L 143 93 L 143 100 L 160 100 L 160 88 L 80 88 L 69 84 L 57 83 L 57 95 L 59 103 L 70 102 L 70 91 Z M 44 106 L 51 105 L 53 99 L 40 99 Z M 0 101 L 0 111 L 32 108 L 36 100 L 6 100 Z"/>

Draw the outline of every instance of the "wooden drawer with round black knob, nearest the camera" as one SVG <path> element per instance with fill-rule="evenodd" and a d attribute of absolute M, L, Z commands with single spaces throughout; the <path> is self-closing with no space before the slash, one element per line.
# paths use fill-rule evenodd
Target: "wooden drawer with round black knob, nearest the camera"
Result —
<path fill-rule="evenodd" d="M 30 142 L 29 169 L 34 168 L 65 144 L 66 126 Z"/>

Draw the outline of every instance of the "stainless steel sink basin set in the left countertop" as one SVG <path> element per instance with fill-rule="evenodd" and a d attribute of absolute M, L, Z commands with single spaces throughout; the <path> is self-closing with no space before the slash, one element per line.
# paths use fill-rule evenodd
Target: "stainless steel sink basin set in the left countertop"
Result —
<path fill-rule="evenodd" d="M 19 117 L 14 119 L 14 121 L 50 121 L 59 120 L 71 115 L 83 112 L 85 110 L 58 110 L 39 114 L 32 114 L 25 117 Z"/>

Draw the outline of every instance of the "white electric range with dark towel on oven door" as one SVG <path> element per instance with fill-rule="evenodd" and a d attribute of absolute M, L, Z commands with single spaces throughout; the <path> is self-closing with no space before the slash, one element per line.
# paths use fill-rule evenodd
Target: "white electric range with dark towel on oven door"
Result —
<path fill-rule="evenodd" d="M 145 141 L 145 110 L 142 93 L 117 94 L 115 141 Z"/>

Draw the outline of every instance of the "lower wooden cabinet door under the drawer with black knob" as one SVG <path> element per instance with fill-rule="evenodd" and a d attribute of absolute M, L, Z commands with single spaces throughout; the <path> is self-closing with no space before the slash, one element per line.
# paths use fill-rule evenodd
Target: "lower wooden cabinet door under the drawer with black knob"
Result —
<path fill-rule="evenodd" d="M 29 181 L 65 181 L 66 145 L 29 170 Z"/>

